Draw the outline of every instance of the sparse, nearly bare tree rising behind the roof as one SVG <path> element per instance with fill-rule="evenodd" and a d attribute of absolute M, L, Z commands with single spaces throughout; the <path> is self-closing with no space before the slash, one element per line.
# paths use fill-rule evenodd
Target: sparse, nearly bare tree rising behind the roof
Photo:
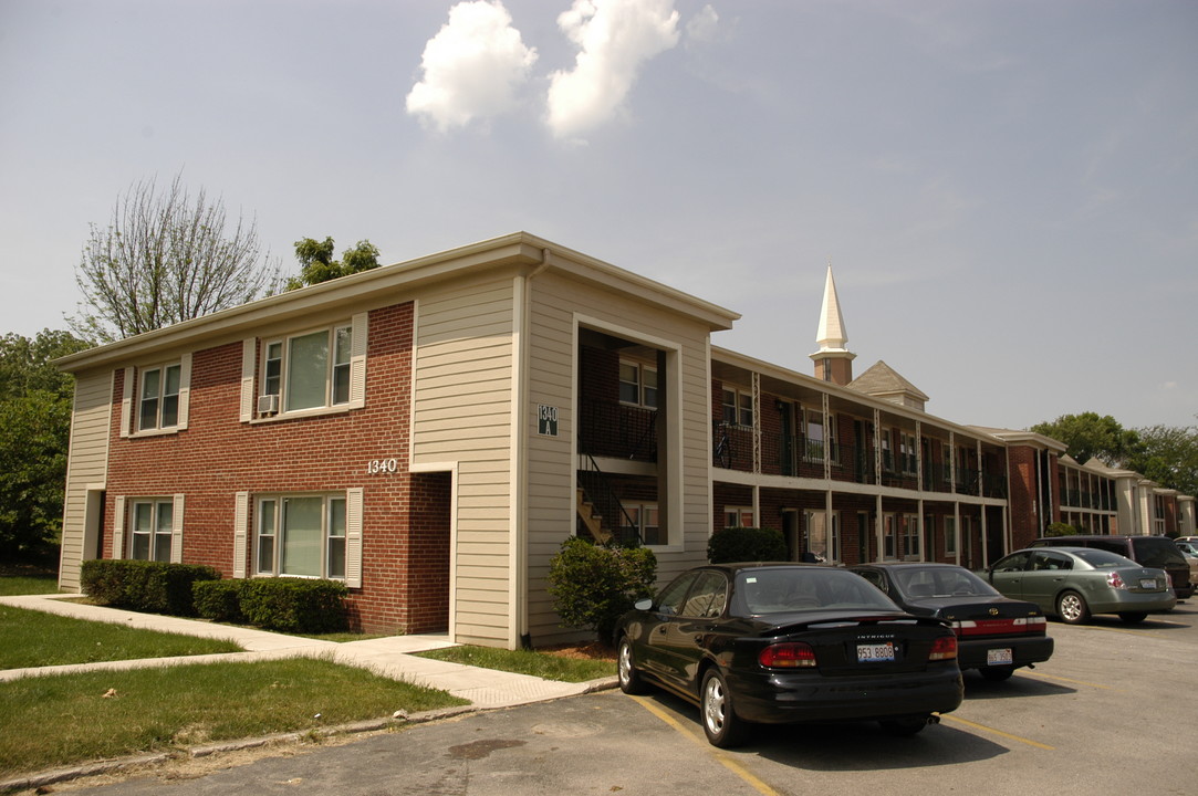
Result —
<path fill-rule="evenodd" d="M 161 194 L 153 180 L 131 186 L 109 225 L 90 227 L 72 328 L 109 342 L 270 294 L 278 265 L 262 255 L 256 221 L 229 226 L 220 200 L 202 188 L 193 199 L 182 172 Z"/>

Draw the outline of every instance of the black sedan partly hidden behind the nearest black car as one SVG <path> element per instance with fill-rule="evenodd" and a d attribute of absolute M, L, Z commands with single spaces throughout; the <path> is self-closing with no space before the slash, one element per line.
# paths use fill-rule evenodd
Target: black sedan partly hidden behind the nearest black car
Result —
<path fill-rule="evenodd" d="M 957 663 L 987 680 L 1047 661 L 1053 640 L 1034 602 L 1004 597 L 969 570 L 952 564 L 861 564 L 849 567 L 882 589 L 900 608 L 936 616 L 957 634 Z"/>

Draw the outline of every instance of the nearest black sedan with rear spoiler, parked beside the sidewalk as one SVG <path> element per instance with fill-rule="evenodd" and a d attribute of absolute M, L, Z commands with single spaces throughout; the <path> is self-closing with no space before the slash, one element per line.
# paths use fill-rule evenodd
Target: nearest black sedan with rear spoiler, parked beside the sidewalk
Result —
<path fill-rule="evenodd" d="M 957 638 L 847 570 L 715 564 L 689 570 L 616 627 L 619 687 L 700 707 L 707 740 L 746 722 L 877 719 L 909 735 L 963 695 Z"/>

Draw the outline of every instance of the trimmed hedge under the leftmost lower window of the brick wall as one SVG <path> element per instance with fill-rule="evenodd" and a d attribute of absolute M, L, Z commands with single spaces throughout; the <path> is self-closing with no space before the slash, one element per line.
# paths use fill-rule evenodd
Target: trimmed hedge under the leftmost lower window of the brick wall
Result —
<path fill-rule="evenodd" d="M 80 588 L 102 606 L 173 616 L 194 616 L 192 588 L 218 581 L 211 566 L 131 559 L 91 559 L 83 563 Z"/>

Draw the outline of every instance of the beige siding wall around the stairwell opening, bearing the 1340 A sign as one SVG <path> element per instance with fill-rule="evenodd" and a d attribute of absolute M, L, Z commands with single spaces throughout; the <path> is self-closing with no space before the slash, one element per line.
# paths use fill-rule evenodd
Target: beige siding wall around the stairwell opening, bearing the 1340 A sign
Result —
<path fill-rule="evenodd" d="M 576 435 L 574 317 L 595 318 L 679 350 L 684 551 L 658 553 L 659 582 L 706 563 L 710 523 L 708 486 L 708 327 L 685 316 L 545 273 L 532 282 L 528 435 L 528 628 L 534 644 L 569 638 L 558 625 L 545 584 L 549 561 L 574 533 Z M 582 397 L 582 396 L 579 396 Z M 537 433 L 539 405 L 559 409 L 558 436 Z"/>

